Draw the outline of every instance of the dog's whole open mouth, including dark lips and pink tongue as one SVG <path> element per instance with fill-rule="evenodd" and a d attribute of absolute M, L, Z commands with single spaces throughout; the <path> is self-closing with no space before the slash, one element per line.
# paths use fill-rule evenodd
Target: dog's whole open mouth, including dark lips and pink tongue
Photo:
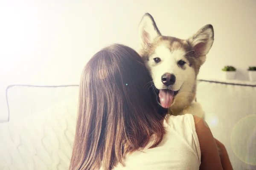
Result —
<path fill-rule="evenodd" d="M 157 100 L 163 108 L 169 108 L 172 105 L 173 98 L 178 92 L 179 91 L 172 91 L 169 89 L 157 90 Z"/>

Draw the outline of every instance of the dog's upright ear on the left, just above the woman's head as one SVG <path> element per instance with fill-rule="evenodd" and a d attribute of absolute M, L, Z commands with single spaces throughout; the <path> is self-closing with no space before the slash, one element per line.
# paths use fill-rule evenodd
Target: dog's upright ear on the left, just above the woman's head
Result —
<path fill-rule="evenodd" d="M 139 25 L 139 51 L 146 49 L 160 35 L 153 17 L 148 13 L 144 14 Z"/>

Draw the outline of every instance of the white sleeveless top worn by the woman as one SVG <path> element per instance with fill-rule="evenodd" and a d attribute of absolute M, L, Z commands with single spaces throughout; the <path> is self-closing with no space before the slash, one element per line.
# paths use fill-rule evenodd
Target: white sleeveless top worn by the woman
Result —
<path fill-rule="evenodd" d="M 166 135 L 154 148 L 126 156 L 113 170 L 199 170 L 201 150 L 191 114 L 167 116 Z"/>

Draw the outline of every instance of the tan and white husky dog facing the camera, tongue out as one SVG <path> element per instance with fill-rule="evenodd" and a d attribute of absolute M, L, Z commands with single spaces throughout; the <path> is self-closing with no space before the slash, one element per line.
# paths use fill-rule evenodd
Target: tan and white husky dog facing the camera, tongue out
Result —
<path fill-rule="evenodd" d="M 206 25 L 187 40 L 163 36 L 153 17 L 144 14 L 139 25 L 139 51 L 152 77 L 159 104 L 168 113 L 204 117 L 196 102 L 196 78 L 212 47 L 214 32 Z"/>

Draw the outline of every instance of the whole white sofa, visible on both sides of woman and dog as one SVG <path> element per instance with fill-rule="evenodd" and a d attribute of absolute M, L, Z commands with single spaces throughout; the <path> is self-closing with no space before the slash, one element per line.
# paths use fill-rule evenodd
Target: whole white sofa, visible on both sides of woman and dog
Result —
<path fill-rule="evenodd" d="M 10 119 L 0 124 L 0 170 L 68 170 L 78 87 L 10 88 L 8 100 Z M 256 165 L 256 87 L 198 81 L 197 100 L 234 170 L 256 170 L 245 163 Z"/>

